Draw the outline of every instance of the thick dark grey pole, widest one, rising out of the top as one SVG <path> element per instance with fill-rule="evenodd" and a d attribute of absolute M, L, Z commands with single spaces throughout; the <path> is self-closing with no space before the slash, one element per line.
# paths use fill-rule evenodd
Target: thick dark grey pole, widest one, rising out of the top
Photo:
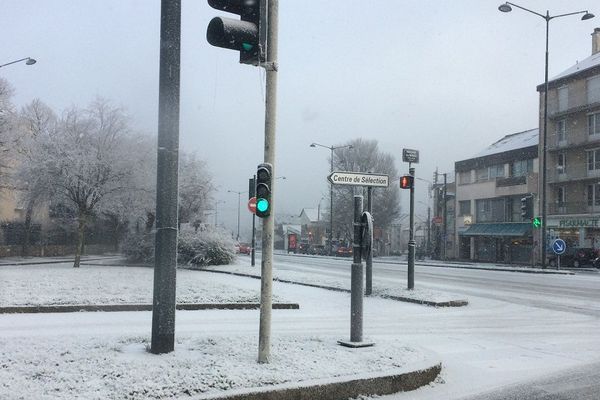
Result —
<path fill-rule="evenodd" d="M 156 174 L 156 244 L 152 341 L 154 354 L 175 345 L 177 183 L 179 163 L 179 70 L 181 1 L 162 0 Z"/>

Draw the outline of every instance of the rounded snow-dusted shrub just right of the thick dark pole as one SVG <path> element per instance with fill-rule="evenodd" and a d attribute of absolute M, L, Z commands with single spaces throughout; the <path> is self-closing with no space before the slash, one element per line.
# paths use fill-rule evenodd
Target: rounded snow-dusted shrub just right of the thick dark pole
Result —
<path fill-rule="evenodd" d="M 234 244 L 228 233 L 214 227 L 180 231 L 177 262 L 193 266 L 230 264 L 235 259 Z"/>

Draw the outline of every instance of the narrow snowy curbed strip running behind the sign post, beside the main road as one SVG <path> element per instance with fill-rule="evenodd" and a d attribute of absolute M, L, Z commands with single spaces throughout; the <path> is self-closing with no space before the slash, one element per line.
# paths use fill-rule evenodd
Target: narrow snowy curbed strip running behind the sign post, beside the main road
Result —
<path fill-rule="evenodd" d="M 244 268 L 244 267 L 242 267 Z M 246 267 L 247 268 L 247 267 Z M 228 270 L 232 269 L 232 270 Z M 229 274 L 235 276 L 242 276 L 248 278 L 260 279 L 260 274 L 257 273 L 248 273 L 248 272 L 239 272 L 239 268 L 236 265 L 233 266 L 225 266 L 225 267 L 208 267 L 202 269 L 207 272 L 215 272 L 221 274 Z M 291 283 L 294 285 L 302 285 L 308 287 L 314 287 L 319 289 L 326 290 L 334 290 L 337 292 L 346 292 L 350 293 L 350 289 L 346 289 L 341 287 L 337 282 L 330 282 L 331 285 L 323 285 L 320 283 L 311 283 L 311 282 L 301 282 L 299 279 L 285 279 L 279 277 L 280 272 L 274 271 L 273 280 L 282 283 Z M 285 276 L 285 273 L 281 274 Z M 401 288 L 378 288 L 373 290 L 373 294 L 375 296 L 379 296 L 382 298 L 397 300 L 397 301 L 405 301 L 409 303 L 422 304 L 426 306 L 432 307 L 463 307 L 469 304 L 466 299 L 455 298 L 446 293 L 441 293 L 438 291 L 432 290 L 424 290 L 424 289 L 401 289 Z"/>

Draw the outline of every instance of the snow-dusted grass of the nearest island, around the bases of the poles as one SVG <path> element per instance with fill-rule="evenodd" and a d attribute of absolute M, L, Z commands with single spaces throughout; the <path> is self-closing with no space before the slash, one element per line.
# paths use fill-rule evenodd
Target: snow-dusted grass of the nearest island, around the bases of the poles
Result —
<path fill-rule="evenodd" d="M 393 373 L 422 362 L 399 341 L 349 349 L 333 337 L 279 337 L 258 364 L 255 336 L 178 338 L 154 355 L 145 337 L 0 339 L 2 399 L 171 399 L 341 376 Z"/>

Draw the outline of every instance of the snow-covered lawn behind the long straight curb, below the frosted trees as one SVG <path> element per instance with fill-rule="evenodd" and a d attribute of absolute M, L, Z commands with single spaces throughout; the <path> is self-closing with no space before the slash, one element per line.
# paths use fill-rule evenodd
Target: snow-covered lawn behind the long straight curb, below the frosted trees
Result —
<path fill-rule="evenodd" d="M 72 263 L 0 266 L 0 307 L 67 304 L 152 304 L 154 270 Z M 260 282 L 237 285 L 177 270 L 178 303 L 257 303 Z M 281 298 L 276 298 L 281 301 Z"/>

